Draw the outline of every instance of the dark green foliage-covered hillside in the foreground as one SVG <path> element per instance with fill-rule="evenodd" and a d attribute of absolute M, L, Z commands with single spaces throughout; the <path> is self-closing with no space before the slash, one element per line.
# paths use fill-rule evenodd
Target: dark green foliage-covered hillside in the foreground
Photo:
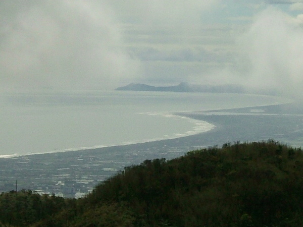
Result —
<path fill-rule="evenodd" d="M 129 166 L 78 200 L 0 196 L 4 226 L 301 226 L 303 154 L 275 141 L 224 144 Z M 0 224 L 1 226 L 1 224 Z"/>

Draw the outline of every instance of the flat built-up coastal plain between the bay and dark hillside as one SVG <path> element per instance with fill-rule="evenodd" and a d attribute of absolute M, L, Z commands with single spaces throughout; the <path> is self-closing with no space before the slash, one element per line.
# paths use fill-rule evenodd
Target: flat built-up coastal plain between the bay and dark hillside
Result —
<path fill-rule="evenodd" d="M 146 159 L 173 159 L 227 142 L 277 140 L 303 146 L 302 104 L 175 113 L 216 127 L 176 139 L 104 148 L 1 158 L 0 191 L 29 189 L 63 197 L 81 197 L 98 183 Z M 17 184 L 16 184 L 17 183 Z"/>

